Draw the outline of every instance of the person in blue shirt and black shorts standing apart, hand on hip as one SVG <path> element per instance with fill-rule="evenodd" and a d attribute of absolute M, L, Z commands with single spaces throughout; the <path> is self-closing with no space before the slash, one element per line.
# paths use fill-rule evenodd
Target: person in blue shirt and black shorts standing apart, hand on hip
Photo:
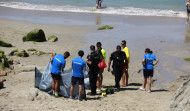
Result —
<path fill-rule="evenodd" d="M 154 63 L 154 61 L 156 61 Z M 158 59 L 149 48 L 145 49 L 145 54 L 143 56 L 142 64 L 143 64 L 143 74 L 144 74 L 144 84 L 143 87 L 140 87 L 140 90 L 146 90 L 147 78 L 149 82 L 148 92 L 151 93 L 151 79 L 154 74 L 154 66 L 158 63 Z"/>

